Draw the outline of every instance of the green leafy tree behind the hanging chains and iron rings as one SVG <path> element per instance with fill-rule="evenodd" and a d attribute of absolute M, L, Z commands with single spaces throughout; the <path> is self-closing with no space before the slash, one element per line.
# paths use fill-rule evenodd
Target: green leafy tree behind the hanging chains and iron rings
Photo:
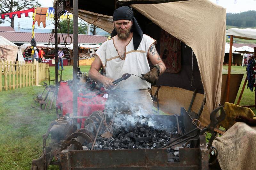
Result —
<path fill-rule="evenodd" d="M 67 20 L 60 21 L 60 29 L 62 33 L 68 33 Z M 70 20 L 69 23 L 69 33 L 73 33 L 73 20 Z M 87 24 L 83 22 L 78 23 L 78 34 L 87 34 Z"/>

